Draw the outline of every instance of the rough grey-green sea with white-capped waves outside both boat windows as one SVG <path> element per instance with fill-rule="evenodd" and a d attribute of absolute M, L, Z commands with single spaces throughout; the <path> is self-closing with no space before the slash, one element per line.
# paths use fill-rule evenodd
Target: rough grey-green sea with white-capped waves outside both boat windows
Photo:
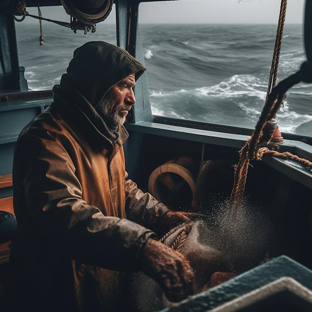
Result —
<path fill-rule="evenodd" d="M 152 111 L 156 115 L 254 129 L 263 110 L 277 25 L 141 24 Z M 86 41 L 116 44 L 114 24 L 95 33 L 43 22 L 16 23 L 19 64 L 32 90 L 59 83 L 75 48 Z M 284 29 L 277 83 L 306 60 L 302 25 Z M 284 133 L 312 135 L 312 85 L 300 83 L 277 114 Z"/>

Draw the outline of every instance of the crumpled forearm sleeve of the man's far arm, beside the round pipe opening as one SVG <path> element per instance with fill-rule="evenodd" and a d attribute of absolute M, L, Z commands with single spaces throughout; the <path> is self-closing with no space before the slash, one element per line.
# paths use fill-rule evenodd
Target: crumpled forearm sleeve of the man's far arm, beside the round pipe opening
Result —
<path fill-rule="evenodd" d="M 155 229 L 167 211 L 169 209 L 150 193 L 144 193 L 131 179 L 126 180 L 126 212 L 130 220 Z"/>

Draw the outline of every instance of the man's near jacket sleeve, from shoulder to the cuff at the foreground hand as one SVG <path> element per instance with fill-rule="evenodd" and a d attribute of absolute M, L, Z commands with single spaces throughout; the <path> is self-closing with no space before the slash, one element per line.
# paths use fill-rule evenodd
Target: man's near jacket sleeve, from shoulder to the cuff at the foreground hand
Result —
<path fill-rule="evenodd" d="M 104 216 L 88 205 L 64 142 L 49 132 L 20 138 L 13 178 L 19 226 L 42 248 L 81 263 L 127 271 L 138 269 L 140 251 L 150 237 L 156 237 L 142 225 Z"/>

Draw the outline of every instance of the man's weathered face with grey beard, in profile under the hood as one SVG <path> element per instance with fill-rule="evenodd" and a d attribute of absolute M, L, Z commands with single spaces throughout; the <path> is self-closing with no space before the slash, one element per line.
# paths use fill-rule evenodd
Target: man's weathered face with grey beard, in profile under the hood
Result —
<path fill-rule="evenodd" d="M 123 125 L 132 105 L 136 103 L 133 92 L 135 84 L 135 74 L 129 75 L 114 85 L 104 98 L 103 103 L 96 107 L 98 114 L 105 117 L 112 126 Z"/>

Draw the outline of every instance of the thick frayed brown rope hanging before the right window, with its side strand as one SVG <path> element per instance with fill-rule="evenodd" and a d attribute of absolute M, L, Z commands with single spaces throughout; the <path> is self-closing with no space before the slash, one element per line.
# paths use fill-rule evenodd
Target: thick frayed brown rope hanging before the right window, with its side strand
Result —
<path fill-rule="evenodd" d="M 242 205 L 250 160 L 261 160 L 264 155 L 271 155 L 294 160 L 309 167 L 310 169 L 312 168 L 312 162 L 307 159 L 300 158 L 289 152 L 279 153 L 277 151 L 271 151 L 264 147 L 269 143 L 271 137 L 264 135 L 263 130 L 268 126 L 271 119 L 275 118 L 277 111 L 283 105 L 283 100 L 287 90 L 301 81 L 312 82 L 308 64 L 305 62 L 302 64 L 301 69 L 297 73 L 291 75 L 275 86 L 286 16 L 286 5 L 287 0 L 282 0 L 266 103 L 253 134 L 244 147 L 239 151 L 239 162 L 235 165 L 234 185 L 230 197 L 231 209 L 233 210 Z M 269 93 L 271 88 L 273 88 L 272 92 Z"/>

